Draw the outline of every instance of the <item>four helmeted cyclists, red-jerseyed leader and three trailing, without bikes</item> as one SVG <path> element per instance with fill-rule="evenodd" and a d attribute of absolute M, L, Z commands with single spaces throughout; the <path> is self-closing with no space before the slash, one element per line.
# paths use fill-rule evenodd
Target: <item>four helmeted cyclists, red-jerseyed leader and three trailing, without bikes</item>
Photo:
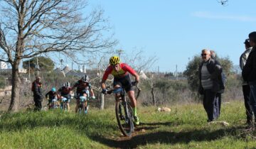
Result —
<path fill-rule="evenodd" d="M 132 69 L 129 65 L 126 63 L 120 62 L 119 57 L 117 56 L 112 56 L 110 57 L 110 65 L 107 67 L 105 70 L 105 73 L 102 77 L 101 81 L 101 87 L 102 87 L 102 94 L 107 94 L 107 89 L 106 89 L 106 80 L 109 75 L 113 75 L 114 77 L 114 82 L 113 82 L 113 87 L 114 88 L 119 88 L 119 87 L 124 87 L 124 90 L 127 92 L 127 95 L 131 101 L 131 106 L 132 106 L 132 112 L 134 116 L 134 123 L 135 125 L 139 125 L 139 116 L 137 114 L 137 100 L 134 95 L 134 87 L 132 84 L 137 84 L 139 83 L 139 75 L 135 70 Z M 134 76 L 134 82 L 132 82 L 131 78 L 129 77 L 129 74 Z M 95 94 L 92 91 L 91 85 L 89 83 L 89 77 L 87 75 L 84 75 L 81 79 L 78 80 L 78 82 L 75 82 L 73 87 L 70 86 L 70 82 L 65 82 L 63 84 L 63 87 L 58 89 L 58 92 L 56 92 L 55 87 L 53 87 L 50 92 L 46 94 L 46 98 L 49 96 L 49 105 L 52 99 L 58 98 L 58 99 L 63 99 L 66 98 L 68 99 L 68 103 L 70 102 L 70 92 L 72 92 L 73 89 L 76 88 L 76 107 L 75 107 L 75 112 L 78 112 L 78 106 L 80 105 L 80 99 L 81 96 L 85 97 L 85 113 L 87 112 L 87 98 L 89 96 L 92 96 L 92 99 L 95 99 Z M 68 104 L 68 111 L 70 110 L 70 106 Z"/>

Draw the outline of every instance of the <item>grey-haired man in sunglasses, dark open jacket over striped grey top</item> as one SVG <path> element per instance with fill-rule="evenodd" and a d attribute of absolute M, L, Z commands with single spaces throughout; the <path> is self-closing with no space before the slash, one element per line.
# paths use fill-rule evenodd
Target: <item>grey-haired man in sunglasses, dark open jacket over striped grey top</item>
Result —
<path fill-rule="evenodd" d="M 201 65 L 199 66 L 199 93 L 203 94 L 203 108 L 206 110 L 208 122 L 218 118 L 218 111 L 214 110 L 214 103 L 220 87 L 221 66 L 210 57 L 210 50 L 203 49 Z"/>

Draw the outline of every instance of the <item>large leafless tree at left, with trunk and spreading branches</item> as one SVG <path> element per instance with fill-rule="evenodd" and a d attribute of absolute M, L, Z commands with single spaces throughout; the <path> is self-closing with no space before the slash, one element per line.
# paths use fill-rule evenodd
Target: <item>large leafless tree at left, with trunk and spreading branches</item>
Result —
<path fill-rule="evenodd" d="M 78 62 L 80 55 L 111 48 L 107 20 L 102 10 L 85 16 L 86 1 L 2 0 L 0 1 L 0 61 L 12 67 L 11 104 L 19 104 L 21 60 L 46 53 L 61 53 Z M 110 35 L 105 37 L 105 35 Z"/>

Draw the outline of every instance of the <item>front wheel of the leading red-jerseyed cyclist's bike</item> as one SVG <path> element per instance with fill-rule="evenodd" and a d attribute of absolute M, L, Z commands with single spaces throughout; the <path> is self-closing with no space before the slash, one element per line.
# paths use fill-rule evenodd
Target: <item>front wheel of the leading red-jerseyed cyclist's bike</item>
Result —
<path fill-rule="evenodd" d="M 127 102 L 116 101 L 115 112 L 120 131 L 124 136 L 132 136 L 134 123 L 132 108 Z"/>

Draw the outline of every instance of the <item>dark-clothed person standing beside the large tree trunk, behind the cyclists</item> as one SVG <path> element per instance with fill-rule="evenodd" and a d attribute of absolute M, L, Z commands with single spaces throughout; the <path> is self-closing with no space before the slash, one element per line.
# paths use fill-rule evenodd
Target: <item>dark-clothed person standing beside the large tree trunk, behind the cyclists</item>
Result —
<path fill-rule="evenodd" d="M 41 111 L 43 101 L 41 77 L 36 77 L 36 80 L 32 83 L 32 92 L 36 106 L 34 111 Z"/>

